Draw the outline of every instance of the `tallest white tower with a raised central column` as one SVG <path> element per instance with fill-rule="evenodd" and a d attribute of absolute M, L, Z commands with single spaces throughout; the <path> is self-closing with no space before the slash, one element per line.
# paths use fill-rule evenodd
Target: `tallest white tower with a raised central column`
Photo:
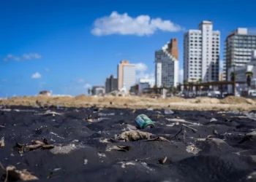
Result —
<path fill-rule="evenodd" d="M 220 32 L 213 31 L 211 21 L 203 21 L 198 29 L 184 34 L 184 79 L 218 81 Z"/>

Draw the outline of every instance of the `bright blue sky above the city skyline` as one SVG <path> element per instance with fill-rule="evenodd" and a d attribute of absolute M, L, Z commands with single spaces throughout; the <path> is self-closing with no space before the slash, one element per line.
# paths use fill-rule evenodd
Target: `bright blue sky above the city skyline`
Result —
<path fill-rule="evenodd" d="M 256 28 L 256 2 L 247 1 L 0 1 L 0 97 L 79 95 L 116 76 L 121 59 L 138 64 L 138 77 L 154 73 L 154 51 L 211 20 L 225 37 Z M 127 13 L 127 14 L 125 14 Z M 160 19 L 157 19 L 160 18 Z"/>

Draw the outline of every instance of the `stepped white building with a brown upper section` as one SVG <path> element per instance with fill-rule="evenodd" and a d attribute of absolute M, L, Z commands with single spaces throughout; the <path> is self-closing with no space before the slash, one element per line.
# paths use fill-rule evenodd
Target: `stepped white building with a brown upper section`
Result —
<path fill-rule="evenodd" d="M 178 40 L 171 39 L 155 52 L 157 87 L 176 87 L 178 84 Z"/>

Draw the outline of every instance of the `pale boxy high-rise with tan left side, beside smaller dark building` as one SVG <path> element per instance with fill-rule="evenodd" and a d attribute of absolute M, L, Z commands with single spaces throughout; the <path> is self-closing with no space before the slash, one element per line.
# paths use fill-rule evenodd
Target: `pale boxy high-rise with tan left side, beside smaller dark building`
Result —
<path fill-rule="evenodd" d="M 129 60 L 121 60 L 117 70 L 118 89 L 125 87 L 129 91 L 135 85 L 135 65 L 130 64 Z"/>

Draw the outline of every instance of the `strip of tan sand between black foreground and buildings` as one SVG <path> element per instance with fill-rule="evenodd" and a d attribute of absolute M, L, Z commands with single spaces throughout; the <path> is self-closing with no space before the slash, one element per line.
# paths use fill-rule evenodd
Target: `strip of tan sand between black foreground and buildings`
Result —
<path fill-rule="evenodd" d="M 78 95 L 76 97 L 15 97 L 0 100 L 0 105 L 7 106 L 34 106 L 36 101 L 48 105 L 60 105 L 65 107 L 115 107 L 115 108 L 171 108 L 181 110 L 256 110 L 256 101 L 247 98 L 230 96 L 224 99 L 217 98 L 140 98 L 129 97 L 94 97 Z"/>

